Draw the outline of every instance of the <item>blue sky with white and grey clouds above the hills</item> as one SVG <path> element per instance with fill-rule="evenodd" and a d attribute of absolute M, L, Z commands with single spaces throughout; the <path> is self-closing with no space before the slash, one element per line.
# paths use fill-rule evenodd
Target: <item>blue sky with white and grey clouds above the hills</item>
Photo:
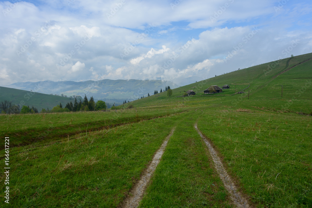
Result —
<path fill-rule="evenodd" d="M 0 1 L 0 86 L 206 79 L 312 52 L 312 3 Z"/>

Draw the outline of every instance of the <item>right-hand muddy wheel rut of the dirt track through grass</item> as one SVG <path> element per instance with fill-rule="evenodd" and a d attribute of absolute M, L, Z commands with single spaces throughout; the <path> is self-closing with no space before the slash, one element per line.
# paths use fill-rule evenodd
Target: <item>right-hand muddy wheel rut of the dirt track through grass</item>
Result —
<path fill-rule="evenodd" d="M 210 155 L 212 157 L 212 160 L 215 164 L 215 168 L 217 169 L 217 172 L 219 173 L 219 176 L 221 180 L 223 181 L 224 187 L 227 189 L 227 191 L 230 193 L 230 198 L 234 202 L 234 204 L 237 207 L 241 208 L 248 208 L 252 207 L 248 204 L 248 200 L 237 190 L 234 182 L 232 181 L 231 177 L 227 174 L 227 171 L 225 167 L 222 164 L 222 161 L 220 157 L 218 156 L 217 152 L 212 147 L 211 143 L 208 141 L 208 139 L 199 131 L 197 128 L 197 123 L 194 125 L 197 133 L 201 136 L 201 138 L 206 143 L 208 150 L 210 152 Z"/>

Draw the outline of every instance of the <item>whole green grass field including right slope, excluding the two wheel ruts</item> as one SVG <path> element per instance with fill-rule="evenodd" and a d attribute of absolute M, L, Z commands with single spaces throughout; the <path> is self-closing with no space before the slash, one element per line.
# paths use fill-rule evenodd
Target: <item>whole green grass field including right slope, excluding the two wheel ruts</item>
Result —
<path fill-rule="evenodd" d="M 3 198 L 0 206 L 120 207 L 175 128 L 139 207 L 235 207 L 197 123 L 250 205 L 312 207 L 310 58 L 234 71 L 173 89 L 170 98 L 163 92 L 135 100 L 129 104 L 136 109 L 125 109 L 127 103 L 117 113 L 1 115 L 0 168 L 10 137 L 11 169 L 10 205 Z M 247 93 L 231 95 L 235 83 L 250 84 Z M 226 84 L 223 93 L 203 94 Z M 196 95 L 181 97 L 188 89 Z M 2 197 L 4 181 L 2 174 Z"/>

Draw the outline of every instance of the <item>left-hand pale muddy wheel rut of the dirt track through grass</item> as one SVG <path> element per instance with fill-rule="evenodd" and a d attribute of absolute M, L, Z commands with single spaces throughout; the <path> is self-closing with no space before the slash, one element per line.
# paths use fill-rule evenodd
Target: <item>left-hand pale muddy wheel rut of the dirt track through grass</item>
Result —
<path fill-rule="evenodd" d="M 161 145 L 161 147 L 155 153 L 152 162 L 149 164 L 147 169 L 142 173 L 141 179 L 133 186 L 130 191 L 129 196 L 127 196 L 121 207 L 123 208 L 132 208 L 139 206 L 140 201 L 143 198 L 144 192 L 147 188 L 147 184 L 149 183 L 150 178 L 152 177 L 157 165 L 160 162 L 161 157 L 163 156 L 163 152 L 165 152 L 165 148 L 169 141 L 169 138 L 173 135 L 174 132 L 173 128 L 169 135 L 166 137 L 165 141 Z"/>

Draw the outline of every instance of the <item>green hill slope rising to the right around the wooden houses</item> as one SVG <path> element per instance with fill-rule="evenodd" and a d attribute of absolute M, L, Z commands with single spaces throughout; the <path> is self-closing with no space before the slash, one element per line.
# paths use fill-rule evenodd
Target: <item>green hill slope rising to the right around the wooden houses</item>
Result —
<path fill-rule="evenodd" d="M 238 106 L 244 108 L 260 107 L 263 101 L 270 99 L 266 103 L 268 109 L 291 110 L 295 112 L 311 111 L 311 85 L 312 85 L 312 53 L 290 57 L 286 59 L 272 61 L 270 63 L 253 66 L 246 69 L 236 70 L 231 73 L 212 77 L 207 80 L 196 82 L 173 89 L 173 95 L 169 99 L 167 92 L 158 93 L 143 99 L 135 100 L 129 104 L 135 107 L 158 106 L 158 105 L 176 105 L 182 104 L 182 94 L 184 91 L 192 89 L 196 95 L 184 97 L 184 105 L 195 103 L 207 104 L 218 103 L 222 105 L 233 105 L 238 98 L 244 98 L 239 101 Z M 233 85 L 237 84 L 237 85 Z M 239 84 L 250 84 L 239 85 Z M 223 89 L 222 93 L 205 95 L 204 90 L 210 85 L 229 85 L 230 89 Z M 283 85 L 283 97 L 282 95 Z M 248 87 L 247 89 L 245 89 Z M 245 89 L 245 94 L 235 94 Z M 250 98 L 248 100 L 248 90 Z M 297 98 L 301 99 L 299 100 Z M 252 104 L 250 103 L 252 101 Z M 127 104 L 127 105 L 129 105 Z M 125 107 L 127 107 L 125 105 Z"/>

